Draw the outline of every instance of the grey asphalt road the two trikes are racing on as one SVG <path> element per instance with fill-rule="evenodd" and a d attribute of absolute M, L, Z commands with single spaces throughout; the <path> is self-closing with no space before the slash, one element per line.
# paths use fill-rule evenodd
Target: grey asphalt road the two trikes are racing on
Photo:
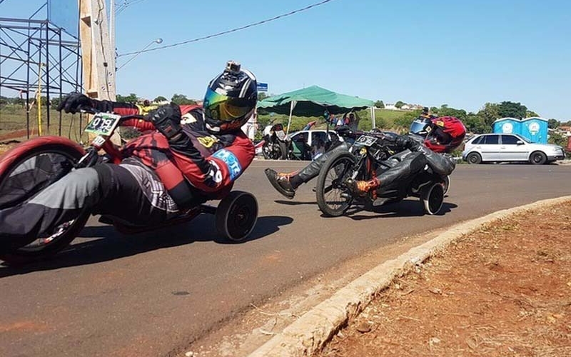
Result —
<path fill-rule="evenodd" d="M 91 220 L 68 251 L 22 269 L 0 266 L 0 356 L 165 356 L 295 286 L 399 237 L 502 208 L 571 194 L 571 166 L 460 165 L 444 213 L 424 216 L 418 198 L 323 218 L 309 183 L 289 201 L 255 161 L 236 188 L 260 206 L 252 238 L 216 238 L 213 217 L 122 236 Z"/>

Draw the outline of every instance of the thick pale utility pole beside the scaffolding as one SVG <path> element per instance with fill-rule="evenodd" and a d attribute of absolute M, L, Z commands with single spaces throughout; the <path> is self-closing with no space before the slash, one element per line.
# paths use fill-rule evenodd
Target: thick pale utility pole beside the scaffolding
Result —
<path fill-rule="evenodd" d="M 115 100 L 115 49 L 111 46 L 104 0 L 79 1 L 79 41 L 84 89 L 93 99 Z M 114 9 L 111 9 L 114 11 Z M 118 131 L 116 131 L 118 133 Z M 118 134 L 111 137 L 120 145 Z"/>

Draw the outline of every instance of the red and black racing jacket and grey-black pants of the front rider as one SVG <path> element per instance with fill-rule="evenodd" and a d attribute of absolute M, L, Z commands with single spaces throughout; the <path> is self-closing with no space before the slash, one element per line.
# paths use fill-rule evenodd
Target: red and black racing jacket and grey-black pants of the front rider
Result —
<path fill-rule="evenodd" d="M 100 111 L 142 114 L 133 104 L 94 101 Z M 145 132 L 123 146 L 121 164 L 78 169 L 19 206 L 0 210 L 0 248 L 14 248 L 55 231 L 83 210 L 131 225 L 153 225 L 210 198 L 222 198 L 251 164 L 254 147 L 241 130 L 213 136 L 200 106 L 181 106 L 181 127 L 192 145 L 169 145 L 148 121 L 130 120 Z"/>

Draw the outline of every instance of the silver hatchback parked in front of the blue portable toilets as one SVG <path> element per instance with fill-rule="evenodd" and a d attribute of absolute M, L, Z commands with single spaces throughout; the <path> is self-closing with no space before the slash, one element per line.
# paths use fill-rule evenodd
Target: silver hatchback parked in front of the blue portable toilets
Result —
<path fill-rule="evenodd" d="M 480 134 L 468 140 L 462 159 L 468 164 L 485 161 L 529 161 L 547 164 L 565 158 L 561 146 L 536 144 L 518 134 Z"/>

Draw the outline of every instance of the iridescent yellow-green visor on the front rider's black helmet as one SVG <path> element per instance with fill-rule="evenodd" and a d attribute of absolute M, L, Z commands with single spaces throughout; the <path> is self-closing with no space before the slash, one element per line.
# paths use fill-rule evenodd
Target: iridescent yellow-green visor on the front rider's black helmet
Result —
<path fill-rule="evenodd" d="M 220 121 L 243 119 L 253 109 L 252 101 L 245 98 L 231 98 L 218 94 L 212 89 L 206 90 L 204 96 L 204 114 Z"/>

